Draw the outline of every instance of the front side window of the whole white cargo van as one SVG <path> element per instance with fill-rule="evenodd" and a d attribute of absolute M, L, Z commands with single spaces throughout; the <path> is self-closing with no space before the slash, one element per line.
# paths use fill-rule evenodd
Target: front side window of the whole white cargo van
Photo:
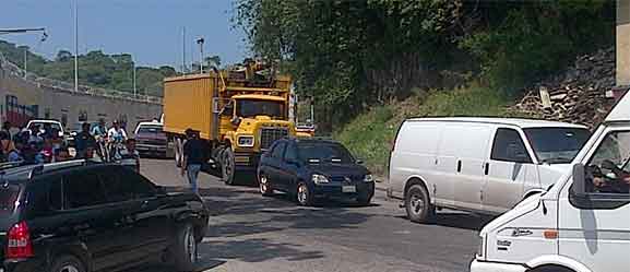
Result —
<path fill-rule="evenodd" d="M 532 158 L 527 154 L 523 139 L 519 131 L 513 129 L 497 129 L 495 143 L 492 144 L 491 159 L 531 164 Z"/>

